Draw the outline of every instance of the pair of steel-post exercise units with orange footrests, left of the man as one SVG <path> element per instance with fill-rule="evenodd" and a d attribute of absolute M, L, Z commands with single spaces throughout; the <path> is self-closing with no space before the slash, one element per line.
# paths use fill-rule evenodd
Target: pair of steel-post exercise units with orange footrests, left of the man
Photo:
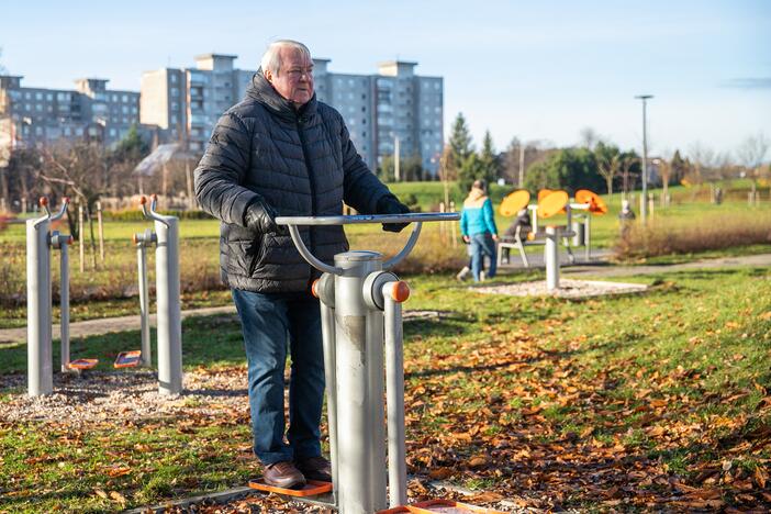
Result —
<path fill-rule="evenodd" d="M 156 291 L 158 304 L 158 390 L 161 394 L 179 394 L 182 390 L 181 313 L 179 306 L 179 231 L 178 220 L 155 212 L 155 201 L 147 210 L 143 198 L 145 217 L 155 221 L 156 232 L 147 230 L 136 235 L 143 248 L 157 243 Z M 48 200 L 40 199 L 45 214 L 26 222 L 26 303 L 27 303 L 27 392 L 31 396 L 51 394 L 53 378 L 52 331 L 52 273 L 51 249 L 58 249 L 60 259 L 60 361 L 62 372 L 83 371 L 99 364 L 98 359 L 70 360 L 69 337 L 69 254 L 72 236 L 51 231 L 52 222 L 64 216 L 69 199 L 64 198 L 55 214 Z M 142 350 L 122 351 L 115 368 L 152 366 L 149 324 L 147 315 L 147 266 L 144 254 L 139 258 L 139 292 L 142 311 Z"/>

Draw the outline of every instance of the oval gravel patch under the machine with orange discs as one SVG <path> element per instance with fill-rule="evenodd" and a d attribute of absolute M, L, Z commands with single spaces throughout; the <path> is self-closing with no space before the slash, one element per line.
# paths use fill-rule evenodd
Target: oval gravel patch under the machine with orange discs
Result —
<path fill-rule="evenodd" d="M 483 286 L 469 288 L 472 291 L 485 294 L 509 294 L 512 297 L 558 297 L 558 298 L 588 298 L 605 294 L 639 293 L 648 289 L 642 283 L 603 282 L 601 280 L 560 279 L 559 289 L 548 291 L 546 280 L 535 282 L 519 282 L 504 286 Z"/>

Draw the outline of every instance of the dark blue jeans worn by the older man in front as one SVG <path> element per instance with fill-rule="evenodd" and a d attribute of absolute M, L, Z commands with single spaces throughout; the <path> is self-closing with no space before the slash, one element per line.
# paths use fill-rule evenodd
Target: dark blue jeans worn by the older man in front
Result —
<path fill-rule="evenodd" d="M 319 300 L 310 293 L 233 289 L 249 380 L 254 451 L 264 465 L 321 455 L 324 350 Z M 284 442 L 284 365 L 291 357 Z"/>

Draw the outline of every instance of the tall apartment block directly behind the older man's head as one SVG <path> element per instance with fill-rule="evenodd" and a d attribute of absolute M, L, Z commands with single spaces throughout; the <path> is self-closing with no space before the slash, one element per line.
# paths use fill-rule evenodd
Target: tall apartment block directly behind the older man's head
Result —
<path fill-rule="evenodd" d="M 161 68 L 142 76 L 141 118 L 156 125 L 164 141 L 187 142 L 203 152 L 220 115 L 237 103 L 256 72 L 234 67 L 235 55 L 195 57 L 193 68 Z M 336 74 L 328 59 L 314 59 L 319 100 L 344 116 L 351 141 L 365 161 L 376 168 L 393 155 L 420 155 L 435 175 L 444 141 L 442 77 L 414 74 L 416 63 L 388 62 L 375 75 Z"/>

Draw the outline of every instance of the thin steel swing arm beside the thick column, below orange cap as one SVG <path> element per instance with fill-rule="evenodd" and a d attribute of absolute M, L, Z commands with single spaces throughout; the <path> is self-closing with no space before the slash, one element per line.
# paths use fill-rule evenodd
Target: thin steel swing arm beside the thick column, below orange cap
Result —
<path fill-rule="evenodd" d="M 406 505 L 406 449 L 404 435 L 404 349 L 402 304 L 391 291 L 399 282 L 382 288 L 386 317 L 386 391 L 388 395 L 389 507 Z"/>

